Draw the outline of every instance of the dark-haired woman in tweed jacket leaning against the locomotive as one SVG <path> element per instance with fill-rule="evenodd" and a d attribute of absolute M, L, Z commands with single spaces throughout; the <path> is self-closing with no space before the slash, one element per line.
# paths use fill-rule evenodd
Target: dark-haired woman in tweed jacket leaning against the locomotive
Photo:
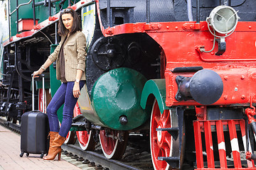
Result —
<path fill-rule="evenodd" d="M 60 12 L 58 34 L 61 35 L 60 44 L 48 57 L 38 71 L 33 72 L 33 77 L 38 77 L 47 67 L 56 61 L 56 76 L 62 81 L 50 101 L 46 112 L 50 125 L 50 148 L 45 160 L 53 160 L 58 154 L 60 160 L 61 145 L 70 130 L 73 109 L 78 101 L 80 89 L 85 84 L 85 35 L 81 32 L 80 18 L 72 8 Z M 63 107 L 63 121 L 59 127 L 57 111 Z"/>

